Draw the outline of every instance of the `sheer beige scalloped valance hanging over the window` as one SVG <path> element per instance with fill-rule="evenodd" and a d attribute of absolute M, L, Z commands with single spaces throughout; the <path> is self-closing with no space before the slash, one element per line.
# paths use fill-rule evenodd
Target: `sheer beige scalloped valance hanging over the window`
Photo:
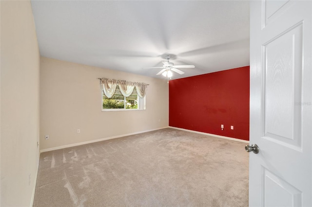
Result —
<path fill-rule="evenodd" d="M 132 94 L 134 88 L 137 88 L 137 95 L 143 98 L 146 94 L 146 89 L 149 84 L 137 83 L 125 80 L 115 80 L 108 78 L 99 78 L 102 84 L 103 91 L 107 98 L 111 98 L 116 90 L 117 85 L 119 86 L 120 92 L 123 96 L 128 97 Z"/>

